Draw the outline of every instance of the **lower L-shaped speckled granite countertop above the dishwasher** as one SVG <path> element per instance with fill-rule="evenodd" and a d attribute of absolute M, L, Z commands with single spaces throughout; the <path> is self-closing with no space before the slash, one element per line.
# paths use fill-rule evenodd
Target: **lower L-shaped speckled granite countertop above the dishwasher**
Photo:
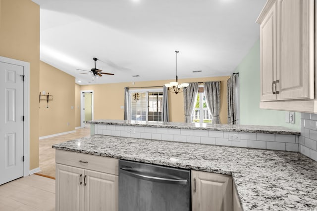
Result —
<path fill-rule="evenodd" d="M 317 162 L 299 153 L 94 135 L 53 148 L 232 174 L 244 211 L 316 211 Z"/>

